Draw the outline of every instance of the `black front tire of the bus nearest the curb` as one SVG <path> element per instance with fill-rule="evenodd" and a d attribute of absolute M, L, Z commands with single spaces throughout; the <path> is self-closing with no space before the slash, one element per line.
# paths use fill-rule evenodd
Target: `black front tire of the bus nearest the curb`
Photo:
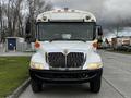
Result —
<path fill-rule="evenodd" d="M 38 83 L 37 81 L 34 81 L 34 79 L 32 79 L 32 90 L 34 91 L 34 93 L 39 93 L 39 91 L 41 91 L 41 88 L 43 88 L 43 84 L 41 83 Z"/>

